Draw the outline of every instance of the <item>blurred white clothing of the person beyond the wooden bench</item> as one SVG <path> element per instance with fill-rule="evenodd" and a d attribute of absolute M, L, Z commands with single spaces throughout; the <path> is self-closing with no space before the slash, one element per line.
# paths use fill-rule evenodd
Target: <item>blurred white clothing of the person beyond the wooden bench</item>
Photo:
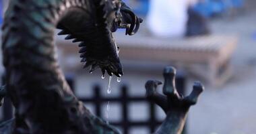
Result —
<path fill-rule="evenodd" d="M 188 9 L 197 0 L 151 0 L 148 29 L 153 36 L 183 37 L 187 33 Z"/>

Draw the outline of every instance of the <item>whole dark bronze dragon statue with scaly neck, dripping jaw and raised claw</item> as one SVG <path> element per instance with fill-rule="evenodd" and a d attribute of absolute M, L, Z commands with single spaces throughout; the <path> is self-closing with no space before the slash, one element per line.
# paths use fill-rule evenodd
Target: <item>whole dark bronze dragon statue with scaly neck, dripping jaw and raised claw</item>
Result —
<path fill-rule="evenodd" d="M 84 68 L 110 76 L 123 75 L 119 47 L 113 32 L 125 28 L 133 35 L 142 19 L 121 0 L 10 0 L 2 27 L 6 85 L 2 90 L 15 107 L 15 119 L 0 125 L 3 134 L 114 134 L 119 133 L 95 117 L 77 100 L 57 64 L 55 28 L 65 39 L 80 42 Z M 201 84 L 188 97 L 173 85 L 174 69 L 166 68 L 164 94 L 158 81 L 146 84 L 147 96 L 166 111 L 156 133 L 181 133 L 189 107 L 196 103 Z M 172 111 L 172 112 L 169 112 Z"/>

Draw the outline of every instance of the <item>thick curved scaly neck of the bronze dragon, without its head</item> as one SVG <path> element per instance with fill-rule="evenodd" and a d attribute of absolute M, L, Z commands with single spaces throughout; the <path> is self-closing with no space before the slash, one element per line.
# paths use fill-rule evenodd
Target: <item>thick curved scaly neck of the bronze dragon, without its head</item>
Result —
<path fill-rule="evenodd" d="M 92 1 L 13 0 L 9 3 L 2 45 L 7 92 L 15 105 L 16 116 L 24 121 L 30 133 L 96 133 L 98 128 L 117 133 L 79 103 L 57 64 L 53 38 L 56 25 L 69 9 L 92 11 L 95 4 Z"/>

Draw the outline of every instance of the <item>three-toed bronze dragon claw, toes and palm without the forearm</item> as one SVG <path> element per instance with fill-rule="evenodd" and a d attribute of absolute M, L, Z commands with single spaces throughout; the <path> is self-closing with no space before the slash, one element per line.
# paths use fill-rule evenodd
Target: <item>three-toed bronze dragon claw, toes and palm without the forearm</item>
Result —
<path fill-rule="evenodd" d="M 179 92 L 177 92 L 174 81 L 175 75 L 175 68 L 169 66 L 164 69 L 164 96 L 156 92 L 157 86 L 162 84 L 162 82 L 158 80 L 148 80 L 145 85 L 146 97 L 158 104 L 166 113 L 173 109 L 183 109 L 184 107 L 189 108 L 191 105 L 195 105 L 199 95 L 204 90 L 201 82 L 195 82 L 191 94 L 184 97 L 183 94 L 179 94 Z M 168 99 L 168 101 L 166 99 Z M 169 100 L 171 100 L 172 103 L 170 103 Z"/>

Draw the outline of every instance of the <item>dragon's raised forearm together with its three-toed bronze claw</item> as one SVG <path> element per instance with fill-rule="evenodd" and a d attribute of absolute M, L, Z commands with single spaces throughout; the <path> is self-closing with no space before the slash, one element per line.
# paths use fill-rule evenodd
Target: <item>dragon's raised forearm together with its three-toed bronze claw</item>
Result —
<path fill-rule="evenodd" d="M 200 82 L 195 82 L 191 94 L 184 97 L 177 92 L 175 75 L 175 68 L 168 66 L 164 69 L 164 95 L 156 92 L 157 86 L 162 82 L 149 80 L 145 85 L 147 98 L 155 102 L 166 113 L 166 119 L 156 131 L 157 134 L 181 134 L 189 108 L 197 103 L 199 94 L 204 90 Z"/>

